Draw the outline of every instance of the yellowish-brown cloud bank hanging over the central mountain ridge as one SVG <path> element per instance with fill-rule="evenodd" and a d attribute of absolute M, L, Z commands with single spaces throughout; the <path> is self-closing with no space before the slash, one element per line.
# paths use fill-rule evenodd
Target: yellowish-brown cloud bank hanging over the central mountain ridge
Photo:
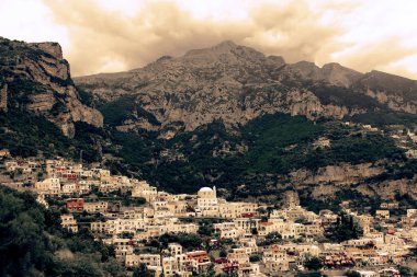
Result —
<path fill-rule="evenodd" d="M 187 4 L 176 1 L 143 1 L 140 9 L 128 14 L 106 9 L 98 1 L 44 3 L 56 23 L 67 30 L 70 46 L 65 55 L 75 76 L 138 68 L 162 55 L 180 56 L 225 39 L 283 56 L 289 62 L 337 61 L 360 71 L 386 68 L 405 72 L 390 65 L 415 50 L 391 36 L 372 42 L 363 36 L 360 42 L 347 39 L 347 34 L 361 27 L 343 22 L 354 19 L 359 0 L 350 4 L 337 0 L 259 0 L 244 1 L 241 7 L 236 1 L 237 12 L 230 10 L 229 18 L 223 18 L 227 14 L 224 10 L 218 11 L 222 18 L 215 16 L 216 10 L 198 16 L 185 9 Z M 390 45 L 390 51 L 383 45 Z"/>

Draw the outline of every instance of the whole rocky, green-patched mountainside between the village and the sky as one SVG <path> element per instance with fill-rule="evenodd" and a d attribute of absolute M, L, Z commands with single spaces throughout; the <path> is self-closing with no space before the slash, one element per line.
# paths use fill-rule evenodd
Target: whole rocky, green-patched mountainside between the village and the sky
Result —
<path fill-rule="evenodd" d="M 0 74 L 0 143 L 13 155 L 82 158 L 169 192 L 215 185 L 234 199 L 273 203 L 285 189 L 302 199 L 417 197 L 413 80 L 289 65 L 224 42 L 75 86 L 59 46 L 2 45 L 25 57 L 3 58 Z M 60 81 L 45 59 L 66 72 Z"/>

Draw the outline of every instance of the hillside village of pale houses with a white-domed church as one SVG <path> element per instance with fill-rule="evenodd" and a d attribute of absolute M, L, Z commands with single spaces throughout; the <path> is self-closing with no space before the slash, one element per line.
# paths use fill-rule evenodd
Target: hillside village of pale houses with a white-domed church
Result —
<path fill-rule="evenodd" d="M 216 187 L 169 194 L 93 164 L 0 155 L 3 184 L 36 193 L 38 203 L 60 210 L 63 228 L 91 232 L 114 246 L 126 268 L 155 276 L 293 276 L 320 268 L 333 276 L 352 269 L 399 276 L 397 266 L 416 253 L 417 209 L 392 216 L 398 201 L 382 203 L 375 215 L 359 213 L 349 201 L 342 213 L 315 213 L 294 191 L 280 206 L 227 201 Z"/>

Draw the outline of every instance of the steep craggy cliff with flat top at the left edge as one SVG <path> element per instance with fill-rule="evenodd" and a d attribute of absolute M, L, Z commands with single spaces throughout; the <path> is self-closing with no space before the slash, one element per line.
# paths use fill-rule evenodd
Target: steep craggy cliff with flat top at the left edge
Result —
<path fill-rule="evenodd" d="M 103 117 L 80 102 L 69 65 L 57 43 L 0 38 L 0 109 L 25 111 L 56 124 L 72 137 L 75 123 L 101 127 Z"/>

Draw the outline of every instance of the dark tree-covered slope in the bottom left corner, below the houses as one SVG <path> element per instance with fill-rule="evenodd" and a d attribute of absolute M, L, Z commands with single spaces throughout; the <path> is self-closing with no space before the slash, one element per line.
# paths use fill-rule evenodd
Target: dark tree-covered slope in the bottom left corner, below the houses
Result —
<path fill-rule="evenodd" d="M 111 246 L 61 229 L 59 215 L 0 185 L 1 276 L 126 276 Z"/>

